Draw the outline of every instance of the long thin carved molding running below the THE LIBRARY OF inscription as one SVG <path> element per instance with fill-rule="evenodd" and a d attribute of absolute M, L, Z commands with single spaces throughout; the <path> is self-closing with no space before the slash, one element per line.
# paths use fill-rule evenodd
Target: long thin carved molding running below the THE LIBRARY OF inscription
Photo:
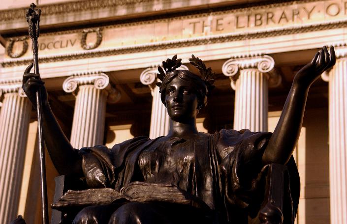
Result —
<path fill-rule="evenodd" d="M 204 44 L 224 43 L 224 42 L 232 42 L 232 41 L 239 41 L 239 40 L 246 40 L 246 39 L 257 39 L 257 38 L 303 33 L 303 32 L 318 31 L 318 30 L 333 29 L 333 28 L 345 28 L 345 27 L 347 27 L 347 21 L 338 21 L 338 22 L 331 22 L 331 23 L 318 24 L 318 25 L 305 25 L 305 26 L 300 26 L 295 28 L 291 27 L 291 28 L 283 28 L 283 29 L 274 29 L 270 31 L 255 31 L 255 32 L 242 33 L 242 34 L 234 34 L 234 33 L 222 34 L 222 35 L 216 35 L 216 36 L 198 37 L 198 38 L 190 38 L 190 39 L 176 40 L 176 41 L 164 41 L 160 43 L 135 45 L 135 46 L 121 47 L 121 48 L 107 49 L 107 50 L 91 50 L 88 52 L 76 53 L 76 54 L 45 56 L 45 57 L 39 57 L 39 62 L 48 63 L 48 62 L 56 62 L 56 61 L 84 59 L 84 58 L 91 58 L 91 57 L 131 54 L 131 53 L 137 53 L 137 52 L 165 50 L 165 49 L 171 49 L 171 48 L 189 47 L 189 46 L 204 45 Z M 6 60 L 1 62 L 1 66 L 12 67 L 12 66 L 18 66 L 18 65 L 27 65 L 31 62 L 32 62 L 32 58 Z"/>

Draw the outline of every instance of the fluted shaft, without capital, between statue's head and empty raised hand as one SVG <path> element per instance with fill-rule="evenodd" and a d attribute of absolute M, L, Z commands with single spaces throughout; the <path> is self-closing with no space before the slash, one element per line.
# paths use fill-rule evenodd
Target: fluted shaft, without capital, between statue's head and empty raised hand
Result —
<path fill-rule="evenodd" d="M 243 69 L 236 81 L 234 129 L 267 131 L 268 87 L 258 69 Z"/>

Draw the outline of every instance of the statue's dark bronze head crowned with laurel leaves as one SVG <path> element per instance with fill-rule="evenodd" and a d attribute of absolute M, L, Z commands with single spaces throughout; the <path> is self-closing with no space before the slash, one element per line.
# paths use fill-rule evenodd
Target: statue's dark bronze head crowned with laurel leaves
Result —
<path fill-rule="evenodd" d="M 207 95 L 213 89 L 214 80 L 212 79 L 213 73 L 211 68 L 207 68 L 205 64 L 197 57 L 192 55 L 189 58 L 190 63 L 196 66 L 201 76 L 195 75 L 188 70 L 176 70 L 181 66 L 181 59 L 176 59 L 174 56 L 172 59 L 163 61 L 163 67 L 158 68 L 158 79 L 161 83 L 157 83 L 159 86 L 161 102 L 167 107 L 170 117 L 172 117 L 172 106 L 180 105 L 185 107 L 185 110 L 173 110 L 175 112 L 185 112 L 187 115 L 195 113 L 207 105 Z M 195 99 L 196 98 L 196 106 Z M 185 100 L 184 100 L 185 99 Z M 169 105 L 168 105 L 169 104 Z M 194 108 L 195 107 L 195 108 Z"/>

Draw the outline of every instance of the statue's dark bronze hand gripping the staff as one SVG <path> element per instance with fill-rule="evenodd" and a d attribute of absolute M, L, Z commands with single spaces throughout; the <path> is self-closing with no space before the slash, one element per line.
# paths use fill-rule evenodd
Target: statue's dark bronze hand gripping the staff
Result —
<path fill-rule="evenodd" d="M 30 73 L 32 67 L 33 64 L 31 63 L 24 71 L 22 88 L 32 102 L 32 105 L 36 107 L 36 92 L 41 89 L 41 100 L 42 104 L 44 104 L 47 102 L 47 90 L 44 86 L 44 82 L 41 80 L 40 75 Z"/>

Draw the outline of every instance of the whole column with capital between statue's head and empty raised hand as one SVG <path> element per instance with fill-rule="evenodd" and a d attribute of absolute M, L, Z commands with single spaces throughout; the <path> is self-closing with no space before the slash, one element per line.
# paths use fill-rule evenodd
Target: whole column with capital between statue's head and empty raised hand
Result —
<path fill-rule="evenodd" d="M 268 85 L 281 83 L 274 72 L 271 56 L 231 58 L 224 62 L 222 72 L 235 90 L 234 129 L 267 131 Z"/>

